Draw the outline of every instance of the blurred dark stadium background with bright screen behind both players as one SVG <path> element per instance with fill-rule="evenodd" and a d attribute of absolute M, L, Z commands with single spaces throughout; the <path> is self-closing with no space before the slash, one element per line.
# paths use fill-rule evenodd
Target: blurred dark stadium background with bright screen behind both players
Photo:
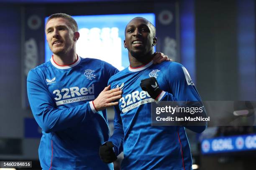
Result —
<path fill-rule="evenodd" d="M 41 129 L 27 101 L 26 75 L 51 56 L 44 35 L 49 15 L 76 16 L 83 35 L 78 55 L 119 69 L 128 66 L 125 24 L 144 16 L 156 25 L 156 51 L 187 67 L 202 100 L 255 101 L 255 8 L 254 0 L 0 0 L 0 160 L 32 160 L 28 169 L 40 169 Z M 111 108 L 108 117 L 113 130 Z M 256 169 L 254 123 L 187 135 L 193 169 Z"/>

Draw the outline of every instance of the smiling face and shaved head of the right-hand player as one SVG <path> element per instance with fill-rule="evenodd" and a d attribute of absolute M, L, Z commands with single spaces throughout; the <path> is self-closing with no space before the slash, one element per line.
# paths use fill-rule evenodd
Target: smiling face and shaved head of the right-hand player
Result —
<path fill-rule="evenodd" d="M 154 53 L 156 45 L 154 26 L 144 18 L 134 18 L 125 28 L 124 46 L 136 58 Z"/>

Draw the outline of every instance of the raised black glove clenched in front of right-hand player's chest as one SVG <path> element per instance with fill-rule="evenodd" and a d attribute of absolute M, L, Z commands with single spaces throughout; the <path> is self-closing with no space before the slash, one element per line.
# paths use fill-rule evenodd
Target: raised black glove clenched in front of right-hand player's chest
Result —
<path fill-rule="evenodd" d="M 162 92 L 155 77 L 150 77 L 150 78 L 141 80 L 140 85 L 141 85 L 141 89 L 148 92 L 148 94 L 153 99 L 156 99 L 156 97 L 158 97 L 159 94 Z"/>

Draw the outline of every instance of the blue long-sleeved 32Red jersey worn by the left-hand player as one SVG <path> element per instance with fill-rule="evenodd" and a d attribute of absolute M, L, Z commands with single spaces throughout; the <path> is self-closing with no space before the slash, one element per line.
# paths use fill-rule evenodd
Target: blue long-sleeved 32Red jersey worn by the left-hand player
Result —
<path fill-rule="evenodd" d="M 53 58 L 30 70 L 28 100 L 42 128 L 39 159 L 43 169 L 109 170 L 99 158 L 99 146 L 109 139 L 106 110 L 94 100 L 118 70 L 107 62 L 77 57 L 69 66 Z"/>

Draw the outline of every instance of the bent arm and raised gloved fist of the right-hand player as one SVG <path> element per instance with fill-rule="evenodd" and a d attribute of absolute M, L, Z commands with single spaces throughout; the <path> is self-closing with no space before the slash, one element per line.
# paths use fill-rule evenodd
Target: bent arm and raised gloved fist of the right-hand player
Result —
<path fill-rule="evenodd" d="M 161 90 L 155 77 L 150 77 L 141 80 L 142 90 L 147 91 L 148 94 L 156 100 L 156 102 L 194 101 L 190 102 L 192 103 L 192 105 L 187 105 L 186 107 L 203 107 L 201 98 L 195 88 L 195 85 L 190 79 L 189 74 L 187 73 L 185 67 L 182 67 L 182 65 L 174 63 L 174 67 L 172 67 L 172 69 L 174 69 L 172 70 L 172 76 L 167 75 L 166 77 L 166 84 L 169 85 L 169 89 L 172 89 L 172 93 Z M 197 116 L 206 117 L 205 109 L 203 109 L 203 112 L 198 113 Z M 184 127 L 194 132 L 201 133 L 202 131 L 205 130 L 206 126 L 207 122 L 204 122 L 204 125 L 200 124 L 200 126 L 185 125 Z"/>

